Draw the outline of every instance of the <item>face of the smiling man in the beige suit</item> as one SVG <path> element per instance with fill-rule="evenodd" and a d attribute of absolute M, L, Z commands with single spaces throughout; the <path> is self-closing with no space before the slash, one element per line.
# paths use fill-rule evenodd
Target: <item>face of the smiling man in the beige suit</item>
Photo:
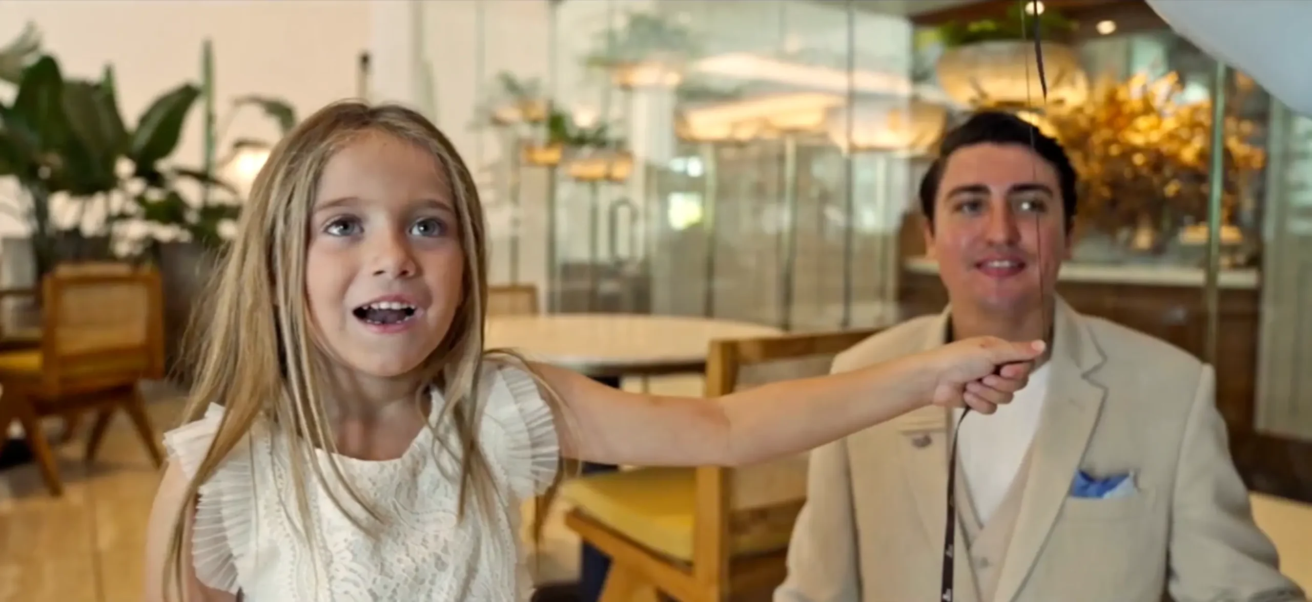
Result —
<path fill-rule="evenodd" d="M 1071 252 L 1056 169 L 1022 144 L 975 144 L 943 167 L 925 247 L 953 303 L 1040 312 Z"/>

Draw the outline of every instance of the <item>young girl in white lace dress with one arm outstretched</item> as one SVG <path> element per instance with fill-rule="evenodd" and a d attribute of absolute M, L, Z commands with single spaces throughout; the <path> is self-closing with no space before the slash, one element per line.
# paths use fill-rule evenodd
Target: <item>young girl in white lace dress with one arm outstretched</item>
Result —
<path fill-rule="evenodd" d="M 415 111 L 341 102 L 256 178 L 151 513 L 147 599 L 510 601 L 559 456 L 743 464 L 904 412 L 991 412 L 1043 345 L 977 338 L 720 399 L 489 354 L 483 209 Z"/>

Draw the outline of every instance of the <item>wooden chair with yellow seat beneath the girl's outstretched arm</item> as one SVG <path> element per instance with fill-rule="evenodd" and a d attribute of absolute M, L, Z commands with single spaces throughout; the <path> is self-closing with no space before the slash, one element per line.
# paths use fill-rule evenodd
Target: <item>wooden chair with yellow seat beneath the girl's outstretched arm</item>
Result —
<path fill-rule="evenodd" d="M 875 331 L 715 341 L 706 395 L 824 375 Z M 749 467 L 638 468 L 575 479 L 565 525 L 611 557 L 602 601 L 720 602 L 783 581 L 807 455 Z"/>

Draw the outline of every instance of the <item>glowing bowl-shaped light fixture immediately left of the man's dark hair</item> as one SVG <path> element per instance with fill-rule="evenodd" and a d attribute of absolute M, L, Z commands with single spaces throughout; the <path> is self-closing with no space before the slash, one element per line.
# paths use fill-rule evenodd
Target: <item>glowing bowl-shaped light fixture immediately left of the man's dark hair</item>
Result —
<path fill-rule="evenodd" d="M 851 121 L 849 138 L 849 118 Z M 863 100 L 829 110 L 825 130 L 844 152 L 929 152 L 947 126 L 947 108 L 920 98 Z"/>

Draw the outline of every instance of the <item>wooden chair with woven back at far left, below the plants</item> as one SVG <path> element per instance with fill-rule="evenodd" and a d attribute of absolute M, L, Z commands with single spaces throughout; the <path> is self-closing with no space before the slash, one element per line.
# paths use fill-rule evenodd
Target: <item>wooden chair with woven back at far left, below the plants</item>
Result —
<path fill-rule="evenodd" d="M 139 382 L 164 375 L 163 299 L 154 270 L 105 273 L 60 270 L 42 283 L 41 346 L 0 353 L 0 429 L 22 424 L 28 443 L 52 494 L 63 485 L 45 416 L 97 411 L 87 460 L 123 409 L 156 466 L 163 454 L 146 412 Z"/>

